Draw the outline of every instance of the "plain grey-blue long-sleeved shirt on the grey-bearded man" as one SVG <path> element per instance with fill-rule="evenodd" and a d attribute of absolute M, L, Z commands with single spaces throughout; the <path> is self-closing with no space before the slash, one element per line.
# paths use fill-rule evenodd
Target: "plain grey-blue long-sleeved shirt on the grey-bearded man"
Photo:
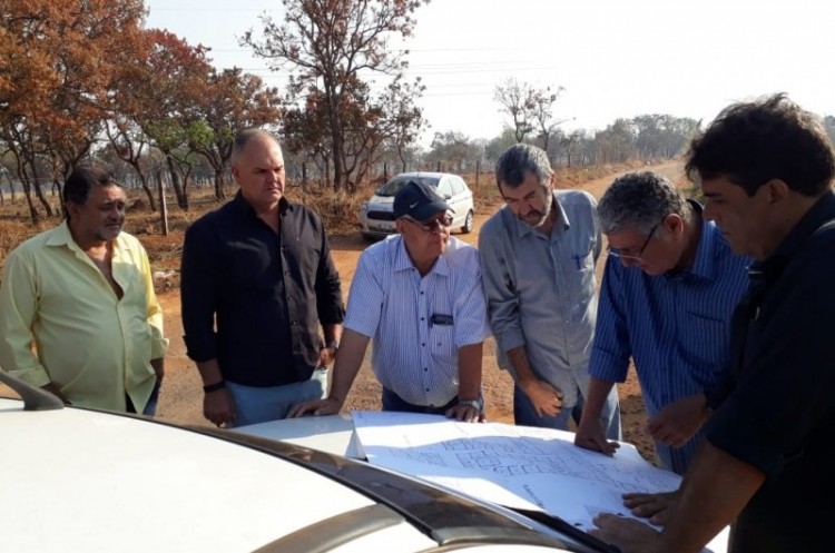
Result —
<path fill-rule="evenodd" d="M 479 254 L 499 366 L 512 373 L 505 352 L 524 346 L 533 373 L 572 407 L 578 389 L 588 393 L 601 235 L 590 194 L 553 196 L 559 218 L 550 236 L 505 206 L 482 226 Z"/>

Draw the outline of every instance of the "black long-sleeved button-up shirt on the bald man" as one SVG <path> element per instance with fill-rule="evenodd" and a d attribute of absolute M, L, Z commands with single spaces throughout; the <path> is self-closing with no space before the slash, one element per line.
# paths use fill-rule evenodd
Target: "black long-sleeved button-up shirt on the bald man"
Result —
<path fill-rule="evenodd" d="M 281 234 L 240 192 L 186 231 L 180 297 L 188 356 L 217 358 L 224 378 L 246 386 L 305 381 L 316 366 L 318 326 L 345 315 L 324 227 L 282 198 Z"/>

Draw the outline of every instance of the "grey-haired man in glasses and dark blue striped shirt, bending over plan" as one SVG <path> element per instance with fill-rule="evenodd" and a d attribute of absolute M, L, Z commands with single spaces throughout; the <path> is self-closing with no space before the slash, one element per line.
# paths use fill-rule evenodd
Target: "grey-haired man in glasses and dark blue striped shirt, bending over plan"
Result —
<path fill-rule="evenodd" d="M 609 239 L 591 349 L 591 385 L 574 444 L 608 455 L 597 417 L 635 361 L 661 464 L 682 474 L 728 362 L 730 316 L 749 259 L 735 256 L 701 206 L 654 172 L 625 175 L 598 205 Z"/>

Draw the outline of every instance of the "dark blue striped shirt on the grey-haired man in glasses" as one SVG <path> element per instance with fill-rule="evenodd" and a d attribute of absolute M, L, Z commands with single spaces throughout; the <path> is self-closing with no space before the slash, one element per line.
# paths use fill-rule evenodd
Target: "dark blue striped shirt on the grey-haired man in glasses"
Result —
<path fill-rule="evenodd" d="M 688 270 L 648 276 L 609 257 L 591 375 L 623 382 L 632 357 L 649 416 L 672 401 L 710 391 L 726 368 L 730 316 L 748 284 L 749 264 L 749 258 L 734 255 L 713 221 L 703 224 Z M 690 440 L 678 450 L 656 442 L 656 451 L 680 474 L 698 442 Z"/>

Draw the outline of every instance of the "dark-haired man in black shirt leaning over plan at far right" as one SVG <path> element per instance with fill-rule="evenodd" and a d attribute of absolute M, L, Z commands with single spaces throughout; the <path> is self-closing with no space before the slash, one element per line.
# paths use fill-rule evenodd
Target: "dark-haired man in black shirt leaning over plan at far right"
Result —
<path fill-rule="evenodd" d="M 705 217 L 752 256 L 731 323 L 728 378 L 679 490 L 627 500 L 662 524 L 600 515 L 628 552 L 696 552 L 733 523 L 730 552 L 833 551 L 835 157 L 816 117 L 778 95 L 730 106 L 697 137 L 687 172 Z"/>

